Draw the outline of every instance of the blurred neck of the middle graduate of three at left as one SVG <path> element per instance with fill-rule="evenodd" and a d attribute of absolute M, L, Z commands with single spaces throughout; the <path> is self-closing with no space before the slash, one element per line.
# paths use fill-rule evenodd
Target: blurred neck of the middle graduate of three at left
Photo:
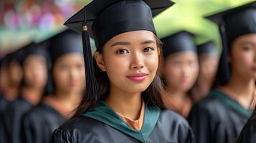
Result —
<path fill-rule="evenodd" d="M 42 97 L 42 89 L 34 89 L 32 87 L 23 87 L 22 88 L 22 97 L 27 100 L 32 105 L 39 103 Z"/>

